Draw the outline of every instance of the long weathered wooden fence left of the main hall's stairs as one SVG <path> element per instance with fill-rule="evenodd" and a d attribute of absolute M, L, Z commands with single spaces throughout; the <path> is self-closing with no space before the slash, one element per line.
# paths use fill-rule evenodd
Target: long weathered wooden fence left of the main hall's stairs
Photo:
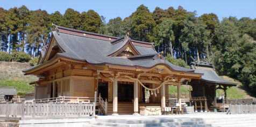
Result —
<path fill-rule="evenodd" d="M 95 116 L 93 103 L 0 103 L 5 117 L 80 117 Z"/>

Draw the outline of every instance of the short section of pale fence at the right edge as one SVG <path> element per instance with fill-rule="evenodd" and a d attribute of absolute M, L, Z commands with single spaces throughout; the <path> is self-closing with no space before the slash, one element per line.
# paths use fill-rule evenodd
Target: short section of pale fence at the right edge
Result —
<path fill-rule="evenodd" d="M 256 113 L 256 104 L 230 104 L 230 114 Z"/>

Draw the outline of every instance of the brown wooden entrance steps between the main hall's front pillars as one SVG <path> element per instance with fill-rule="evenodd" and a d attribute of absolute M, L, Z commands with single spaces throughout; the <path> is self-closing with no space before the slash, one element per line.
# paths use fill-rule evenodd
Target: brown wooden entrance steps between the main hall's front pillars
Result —
<path fill-rule="evenodd" d="M 161 106 L 161 103 L 139 103 L 140 106 Z M 113 113 L 113 103 L 108 103 L 108 115 Z M 117 113 L 119 115 L 132 115 L 134 113 L 132 102 L 118 102 Z"/>

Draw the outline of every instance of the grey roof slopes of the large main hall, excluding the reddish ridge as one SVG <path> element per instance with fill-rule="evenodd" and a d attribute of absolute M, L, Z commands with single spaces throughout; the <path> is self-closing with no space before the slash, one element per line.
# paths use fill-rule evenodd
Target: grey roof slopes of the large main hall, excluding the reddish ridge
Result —
<path fill-rule="evenodd" d="M 125 39 L 111 43 L 109 41 L 86 38 L 84 36 L 71 35 L 53 31 L 54 38 L 58 45 L 65 51 L 57 55 L 68 57 L 79 61 L 87 61 L 91 64 L 116 64 L 125 66 L 141 66 L 151 68 L 157 64 L 166 64 L 175 71 L 194 71 L 173 65 L 168 61 L 159 58 L 142 58 L 134 61 L 129 58 L 111 57 L 109 54 L 115 52 L 125 44 Z M 134 46 L 140 55 L 156 54 L 150 47 Z"/>

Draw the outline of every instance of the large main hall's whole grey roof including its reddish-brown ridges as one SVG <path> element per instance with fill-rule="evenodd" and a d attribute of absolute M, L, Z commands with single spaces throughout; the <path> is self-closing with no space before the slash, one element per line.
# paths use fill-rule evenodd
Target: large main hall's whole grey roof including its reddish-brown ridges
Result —
<path fill-rule="evenodd" d="M 174 71 L 194 71 L 176 66 L 165 59 L 154 57 L 158 53 L 155 51 L 152 43 L 135 41 L 130 38 L 116 38 L 108 35 L 94 34 L 60 26 L 56 26 L 56 31 L 53 31 L 52 35 L 58 46 L 63 50 L 63 53 L 57 53 L 56 57 L 65 57 L 90 64 L 140 66 L 143 68 L 152 68 L 155 65 L 164 64 Z M 115 53 L 115 51 L 122 49 L 126 44 L 131 44 L 134 50 L 138 52 L 133 57 L 139 57 L 139 59 L 109 56 Z M 152 57 L 145 57 L 147 55 Z M 34 68 L 38 68 L 38 66 Z M 24 72 L 26 73 L 32 69 L 25 70 Z"/>

